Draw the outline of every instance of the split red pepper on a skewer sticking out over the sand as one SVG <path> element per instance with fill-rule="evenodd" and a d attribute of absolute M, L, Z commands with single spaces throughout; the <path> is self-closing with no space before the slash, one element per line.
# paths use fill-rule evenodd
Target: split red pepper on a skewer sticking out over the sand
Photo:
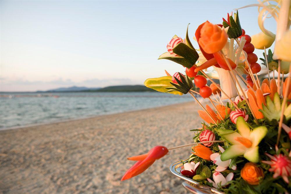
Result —
<path fill-rule="evenodd" d="M 148 169 L 157 159 L 162 158 L 168 152 L 169 150 L 166 147 L 158 145 L 150 149 L 147 154 L 127 158 L 128 160 L 134 160 L 138 162 L 136 162 L 125 172 L 125 174 L 121 178 L 121 181 L 130 179 L 136 175 L 141 174 L 143 171 Z"/>

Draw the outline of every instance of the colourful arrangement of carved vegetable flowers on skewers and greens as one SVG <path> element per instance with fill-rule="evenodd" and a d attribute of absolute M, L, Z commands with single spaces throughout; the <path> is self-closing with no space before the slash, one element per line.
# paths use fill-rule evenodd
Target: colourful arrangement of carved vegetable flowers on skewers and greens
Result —
<path fill-rule="evenodd" d="M 224 193 L 290 193 L 291 3 L 258 2 L 249 5 L 260 11 L 262 32 L 256 35 L 247 34 L 247 24 L 242 29 L 236 11 L 227 14 L 222 24 L 209 20 L 197 26 L 191 35 L 198 49 L 190 41 L 188 28 L 184 39 L 175 35 L 169 41 L 159 59 L 178 63 L 185 72 L 172 76 L 165 71 L 165 76 L 147 79 L 145 86 L 191 95 L 201 106 L 198 114 L 203 122 L 190 130 L 194 136 L 190 144 L 156 146 L 147 154 L 128 158 L 136 163 L 122 181 L 139 175 L 155 160 L 171 154 L 171 149 L 191 145 L 180 174 L 203 186 Z M 277 22 L 276 35 L 263 25 L 267 15 Z M 274 50 L 267 52 L 273 42 Z M 262 49 L 262 65 L 255 49 Z M 203 98 L 209 103 L 201 104 Z"/>

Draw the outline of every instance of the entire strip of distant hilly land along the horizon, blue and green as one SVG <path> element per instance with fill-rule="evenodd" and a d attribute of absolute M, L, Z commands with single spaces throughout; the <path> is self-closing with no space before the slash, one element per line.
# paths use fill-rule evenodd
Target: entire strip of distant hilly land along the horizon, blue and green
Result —
<path fill-rule="evenodd" d="M 68 88 L 56 88 L 36 92 L 155 92 L 155 90 L 147 88 L 143 85 L 124 85 L 124 86 L 108 86 L 105 88 L 88 88 L 72 86 Z"/>

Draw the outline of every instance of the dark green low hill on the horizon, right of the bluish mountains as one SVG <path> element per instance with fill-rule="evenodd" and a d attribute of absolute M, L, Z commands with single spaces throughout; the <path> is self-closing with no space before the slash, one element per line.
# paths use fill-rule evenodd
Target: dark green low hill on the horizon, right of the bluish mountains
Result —
<path fill-rule="evenodd" d="M 147 88 L 143 85 L 134 85 L 134 86 L 108 86 L 105 88 L 101 88 L 95 90 L 96 92 L 145 92 L 150 91 L 153 92 L 155 90 Z"/>

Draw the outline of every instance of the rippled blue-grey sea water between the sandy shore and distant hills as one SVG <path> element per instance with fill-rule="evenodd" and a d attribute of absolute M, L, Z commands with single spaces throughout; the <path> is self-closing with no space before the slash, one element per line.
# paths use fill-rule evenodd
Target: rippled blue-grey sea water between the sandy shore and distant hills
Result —
<path fill-rule="evenodd" d="M 0 130 L 192 100 L 161 92 L 0 93 Z"/>

